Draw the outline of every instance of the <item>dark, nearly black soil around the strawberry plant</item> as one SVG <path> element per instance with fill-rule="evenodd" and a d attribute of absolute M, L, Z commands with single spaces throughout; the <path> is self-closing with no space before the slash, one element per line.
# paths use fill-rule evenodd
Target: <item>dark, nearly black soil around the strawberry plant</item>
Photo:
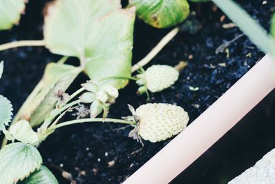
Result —
<path fill-rule="evenodd" d="M 20 25 L 0 32 L 0 43 L 43 39 L 42 12 L 45 2 L 30 0 Z M 238 2 L 268 30 L 270 17 L 275 10 L 274 1 L 267 1 L 265 5 L 256 0 Z M 151 94 L 151 102 L 180 105 L 188 111 L 190 122 L 219 99 L 264 55 L 245 36 L 230 44 L 228 53 L 215 54 L 219 45 L 238 37 L 241 31 L 236 27 L 223 28 L 230 20 L 225 18 L 221 21 L 223 13 L 212 3 L 202 6 L 192 4 L 192 10 L 196 14 L 190 22 L 192 25 L 198 23 L 199 30 L 196 33 L 192 30 L 192 34 L 181 32 L 151 62 L 177 65 L 179 61 L 188 61 L 188 66 L 181 72 L 173 88 Z M 168 31 L 151 28 L 137 20 L 133 62 L 142 59 Z M 15 112 L 41 79 L 46 63 L 59 58 L 45 48 L 27 47 L 0 52 L 0 60 L 5 61 L 0 94 L 12 101 Z M 72 62 L 76 62 L 74 60 Z M 69 92 L 79 88 L 86 79 L 84 74 L 79 76 Z M 198 87 L 199 90 L 192 91 L 190 87 Z M 121 90 L 109 116 L 119 118 L 129 115 L 126 104 L 137 108 L 145 103 L 145 96 L 137 96 L 136 90 L 137 86 L 133 83 Z M 246 121 L 243 120 L 248 123 L 234 127 L 172 183 L 227 183 L 275 147 L 274 136 L 270 131 L 274 128 L 271 123 L 274 119 L 269 116 L 274 114 L 270 103 L 272 97 L 270 94 L 267 99 L 269 105 L 263 103 L 250 113 L 254 116 L 256 114 L 257 118 L 248 116 Z M 63 175 L 65 172 L 72 174 L 76 183 L 120 183 L 169 142 L 145 142 L 142 147 L 140 143 L 128 138 L 130 130 L 131 127 L 111 123 L 65 127 L 50 136 L 39 147 L 39 151 L 43 155 L 44 164 L 54 172 L 60 183 L 69 183 L 61 175 L 62 172 Z"/>

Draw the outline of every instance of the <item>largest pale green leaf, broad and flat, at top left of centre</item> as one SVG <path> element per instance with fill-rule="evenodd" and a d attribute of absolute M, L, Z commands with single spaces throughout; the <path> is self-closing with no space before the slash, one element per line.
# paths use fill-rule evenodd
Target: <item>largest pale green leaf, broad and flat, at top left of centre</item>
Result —
<path fill-rule="evenodd" d="M 45 45 L 55 54 L 78 57 L 90 79 L 131 75 L 133 9 L 119 0 L 59 0 L 45 17 Z M 122 88 L 126 80 L 109 80 Z"/>

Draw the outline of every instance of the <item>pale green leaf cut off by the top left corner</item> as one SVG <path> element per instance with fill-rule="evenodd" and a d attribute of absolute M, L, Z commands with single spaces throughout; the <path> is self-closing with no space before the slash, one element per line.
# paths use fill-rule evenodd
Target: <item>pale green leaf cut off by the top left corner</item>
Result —
<path fill-rule="evenodd" d="M 24 9 L 25 0 L 1 0 L 0 30 L 8 30 L 14 23 L 18 23 Z"/>

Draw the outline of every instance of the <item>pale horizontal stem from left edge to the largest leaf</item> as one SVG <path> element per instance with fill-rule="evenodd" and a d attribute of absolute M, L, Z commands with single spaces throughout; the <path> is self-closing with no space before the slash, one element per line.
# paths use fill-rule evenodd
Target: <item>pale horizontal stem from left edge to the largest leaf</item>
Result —
<path fill-rule="evenodd" d="M 18 48 L 24 46 L 45 46 L 44 40 L 23 40 L 23 41 L 13 41 L 10 43 L 4 43 L 0 45 L 0 51 L 7 50 L 10 48 Z"/>

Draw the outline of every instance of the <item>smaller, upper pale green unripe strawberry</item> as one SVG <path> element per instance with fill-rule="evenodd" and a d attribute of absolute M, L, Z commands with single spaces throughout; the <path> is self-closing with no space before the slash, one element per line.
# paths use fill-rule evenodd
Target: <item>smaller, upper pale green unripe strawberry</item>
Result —
<path fill-rule="evenodd" d="M 169 65 L 152 65 L 142 74 L 137 74 L 137 84 L 145 86 L 150 92 L 160 92 L 173 85 L 178 78 L 179 72 L 175 68 Z"/>

